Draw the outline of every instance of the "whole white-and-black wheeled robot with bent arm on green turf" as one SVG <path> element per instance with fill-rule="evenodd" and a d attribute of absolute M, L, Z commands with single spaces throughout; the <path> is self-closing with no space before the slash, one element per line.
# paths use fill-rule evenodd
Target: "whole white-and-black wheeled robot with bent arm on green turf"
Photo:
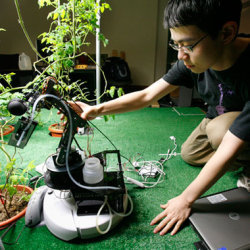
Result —
<path fill-rule="evenodd" d="M 37 122 L 34 121 L 34 113 L 37 108 L 53 106 L 68 120 L 56 153 L 45 162 L 46 185 L 33 193 L 25 224 L 27 227 L 45 224 L 52 234 L 64 241 L 94 238 L 109 232 L 132 212 L 120 152 L 103 151 L 91 159 L 85 158 L 80 149 L 72 146 L 77 128 L 86 130 L 89 125 L 53 92 L 55 83 L 56 80 L 49 77 L 42 93 L 33 90 L 24 100 L 13 99 L 8 105 L 13 115 L 22 115 L 9 140 L 9 145 L 18 148 L 25 147 L 35 130 Z M 108 154 L 117 156 L 117 171 L 107 171 Z M 89 161 L 92 161 L 90 167 Z M 131 202 L 130 212 L 127 212 L 128 201 Z"/>

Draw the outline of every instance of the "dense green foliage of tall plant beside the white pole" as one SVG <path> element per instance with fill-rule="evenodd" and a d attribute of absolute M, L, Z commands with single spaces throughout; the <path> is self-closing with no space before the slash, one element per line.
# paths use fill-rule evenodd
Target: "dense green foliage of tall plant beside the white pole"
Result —
<path fill-rule="evenodd" d="M 84 52 L 84 46 L 90 45 L 87 37 L 96 35 L 97 13 L 110 9 L 109 4 L 102 2 L 98 5 L 96 0 L 38 0 L 38 4 L 40 8 L 53 8 L 48 14 L 50 29 L 40 35 L 42 43 L 46 44 L 44 50 L 50 54 L 41 59 L 49 65 L 46 74 L 58 80 L 60 95 L 67 97 L 73 92 L 78 99 L 88 100 L 88 93 L 82 91 L 84 82 L 71 83 L 68 75 L 74 70 L 77 57 L 90 57 Z M 103 34 L 99 34 L 99 39 L 107 45 L 108 40 Z"/>

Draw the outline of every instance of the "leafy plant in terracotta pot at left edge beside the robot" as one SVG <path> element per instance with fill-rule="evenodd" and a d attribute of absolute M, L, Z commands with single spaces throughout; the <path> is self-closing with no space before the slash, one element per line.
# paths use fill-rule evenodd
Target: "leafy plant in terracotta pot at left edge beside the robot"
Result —
<path fill-rule="evenodd" d="M 7 105 L 13 98 L 22 97 L 21 93 L 8 92 L 12 89 L 11 76 L 13 73 L 0 75 L 0 79 L 4 80 L 5 84 L 0 83 L 0 152 L 4 157 L 1 157 L 0 163 L 0 229 L 7 227 L 20 217 L 24 216 L 26 205 L 32 189 L 27 185 L 28 173 L 34 168 L 31 162 L 24 169 L 15 167 L 16 153 L 8 150 L 7 142 L 4 135 L 9 132 L 13 126 L 10 123 L 15 119 L 7 109 Z M 3 158 L 5 161 L 3 161 Z"/>

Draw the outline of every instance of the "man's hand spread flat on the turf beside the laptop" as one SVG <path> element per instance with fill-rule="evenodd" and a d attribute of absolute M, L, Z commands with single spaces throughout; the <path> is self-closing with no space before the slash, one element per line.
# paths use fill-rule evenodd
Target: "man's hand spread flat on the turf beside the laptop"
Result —
<path fill-rule="evenodd" d="M 166 234 L 171 228 L 173 228 L 171 235 L 174 235 L 191 212 L 191 204 L 182 195 L 169 200 L 167 204 L 161 205 L 161 208 L 164 211 L 150 223 L 150 225 L 155 225 L 161 220 L 160 224 L 154 229 L 154 233 L 160 232 L 160 235 Z"/>

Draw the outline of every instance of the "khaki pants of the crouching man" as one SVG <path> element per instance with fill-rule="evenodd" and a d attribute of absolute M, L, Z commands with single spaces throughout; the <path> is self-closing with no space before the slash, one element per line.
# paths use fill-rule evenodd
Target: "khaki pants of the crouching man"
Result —
<path fill-rule="evenodd" d="M 183 160 L 193 166 L 203 166 L 213 156 L 225 133 L 239 114 L 240 112 L 228 112 L 214 119 L 204 118 L 183 143 L 181 149 Z M 249 143 L 232 163 L 230 169 L 237 170 L 240 167 L 250 169 Z"/>

